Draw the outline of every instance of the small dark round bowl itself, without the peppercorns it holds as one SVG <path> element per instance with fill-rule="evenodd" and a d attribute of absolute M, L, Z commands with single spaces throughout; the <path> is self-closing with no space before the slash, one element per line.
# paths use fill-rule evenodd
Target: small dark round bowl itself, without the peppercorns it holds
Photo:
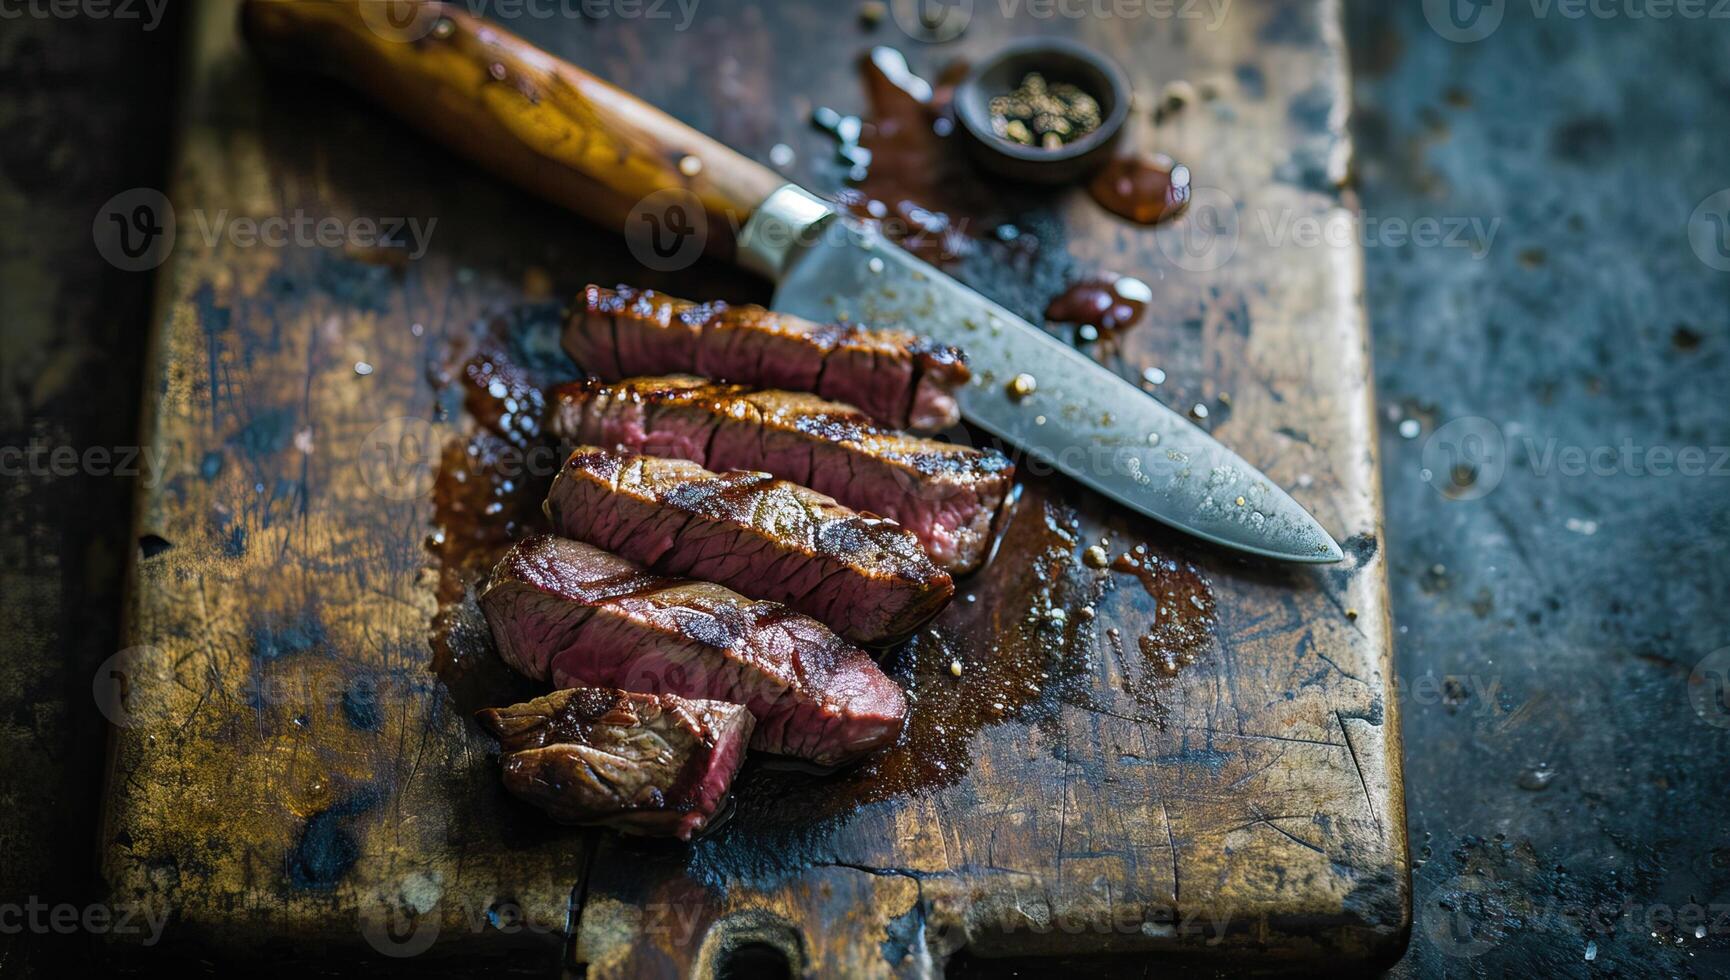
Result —
<path fill-rule="evenodd" d="M 1021 145 L 991 132 L 991 99 L 1014 92 L 1029 71 L 1092 95 L 1099 102 L 1099 128 L 1057 149 Z M 1071 184 L 1111 159 L 1123 121 L 1130 118 L 1130 81 L 1114 61 L 1083 43 L 1031 38 L 1005 47 L 967 73 L 955 87 L 955 118 L 979 166 L 1010 180 Z"/>

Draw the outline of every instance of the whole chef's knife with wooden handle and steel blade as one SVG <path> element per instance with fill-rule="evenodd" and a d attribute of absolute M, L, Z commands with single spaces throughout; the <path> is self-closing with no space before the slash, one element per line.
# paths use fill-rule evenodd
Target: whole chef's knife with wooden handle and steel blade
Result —
<path fill-rule="evenodd" d="M 1045 331 L 666 113 L 460 5 L 246 0 L 273 61 L 344 78 L 510 180 L 673 268 L 699 249 L 777 284 L 773 308 L 903 326 L 964 348 L 962 414 L 1100 493 L 1195 537 L 1339 561 L 1280 487 L 1183 416 Z"/>

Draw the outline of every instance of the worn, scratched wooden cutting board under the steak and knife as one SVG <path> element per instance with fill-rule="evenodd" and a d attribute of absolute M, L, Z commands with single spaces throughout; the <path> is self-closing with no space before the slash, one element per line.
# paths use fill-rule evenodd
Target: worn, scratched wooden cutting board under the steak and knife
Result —
<path fill-rule="evenodd" d="M 502 514 L 460 513 L 493 499 L 455 488 L 471 447 L 509 445 L 476 435 L 472 410 L 502 405 L 479 395 L 491 377 L 462 376 L 488 350 L 531 381 L 562 371 L 559 298 L 586 280 L 728 300 L 766 286 L 644 272 L 612 232 L 346 92 L 265 76 L 232 5 L 209 3 L 147 365 L 163 467 L 138 506 L 133 646 L 95 680 L 118 722 L 102 836 L 116 902 L 171 911 L 168 944 L 272 963 L 426 952 L 637 977 L 785 959 L 853 977 L 1005 956 L 1128 971 L 1396 957 L 1408 864 L 1339 12 L 1190 12 L 1003 21 L 979 3 L 941 47 L 818 3 L 704 2 L 682 31 L 509 24 L 758 159 L 789 144 L 789 177 L 820 190 L 839 166 L 806 119 L 865 109 L 870 43 L 927 74 L 1017 33 L 1107 50 L 1138 95 L 1128 139 L 1192 166 L 1209 225 L 1156 232 L 1076 190 L 1003 190 L 1038 248 L 981 246 L 955 272 L 1035 320 L 1078 272 L 1149 280 L 1147 322 L 1093 345 L 1100 360 L 1164 371 L 1150 395 L 1206 405 L 1348 556 L 1244 563 L 1028 474 L 993 564 L 887 661 L 913 696 L 908 741 L 837 774 L 754 762 L 732 819 L 680 847 L 555 828 L 498 788 L 469 712 L 524 687 L 455 601 L 472 552 L 453 538 L 535 518 L 509 495 Z M 1173 80 L 1189 102 L 1156 126 Z M 247 222 L 270 216 L 291 220 L 284 244 L 253 241 Z M 349 241 L 320 242 L 322 218 Z M 420 234 L 367 248 L 356 218 Z M 1232 220 L 1228 261 L 1173 261 L 1178 235 Z M 1145 545 L 1142 568 L 1092 566 L 1100 540 Z"/>

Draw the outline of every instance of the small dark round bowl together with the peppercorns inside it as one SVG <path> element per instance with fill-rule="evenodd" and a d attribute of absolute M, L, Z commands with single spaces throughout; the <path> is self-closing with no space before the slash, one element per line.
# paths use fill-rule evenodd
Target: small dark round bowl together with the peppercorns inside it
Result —
<path fill-rule="evenodd" d="M 1064 38 L 1007 45 L 955 88 L 955 118 L 974 159 L 1029 184 L 1067 184 L 1099 170 L 1128 116 L 1123 69 Z"/>

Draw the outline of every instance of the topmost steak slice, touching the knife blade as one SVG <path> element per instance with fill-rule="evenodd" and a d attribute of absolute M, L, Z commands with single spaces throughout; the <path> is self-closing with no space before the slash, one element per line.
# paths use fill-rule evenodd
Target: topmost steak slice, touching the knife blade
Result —
<path fill-rule="evenodd" d="M 566 322 L 564 350 L 604 381 L 683 372 L 813 391 L 889 428 L 920 431 L 960 421 L 955 391 L 972 376 L 960 350 L 905 331 L 813 324 L 630 286 L 585 289 Z"/>

